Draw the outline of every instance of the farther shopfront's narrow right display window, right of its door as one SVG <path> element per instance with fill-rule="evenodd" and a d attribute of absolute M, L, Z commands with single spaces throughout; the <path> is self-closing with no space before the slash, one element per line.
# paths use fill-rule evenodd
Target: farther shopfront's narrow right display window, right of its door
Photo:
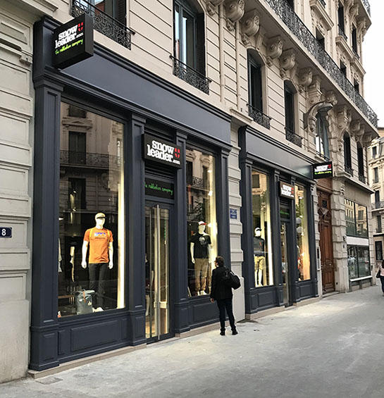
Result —
<path fill-rule="evenodd" d="M 311 279 L 311 259 L 309 258 L 308 201 L 305 187 L 295 186 L 297 269 L 299 280 Z"/>

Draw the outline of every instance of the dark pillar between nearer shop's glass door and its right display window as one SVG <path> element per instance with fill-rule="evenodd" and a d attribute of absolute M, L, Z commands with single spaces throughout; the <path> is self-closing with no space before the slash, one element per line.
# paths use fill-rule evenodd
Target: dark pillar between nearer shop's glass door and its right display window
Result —
<path fill-rule="evenodd" d="M 182 147 L 185 154 L 187 135 L 176 132 L 176 144 Z M 187 175 L 185 164 L 179 168 L 175 176 L 175 263 L 178 265 L 178 277 L 175 280 L 175 333 L 180 334 L 190 330 L 188 301 L 188 270 L 187 270 Z M 178 221 L 181 220 L 181 221 Z"/>

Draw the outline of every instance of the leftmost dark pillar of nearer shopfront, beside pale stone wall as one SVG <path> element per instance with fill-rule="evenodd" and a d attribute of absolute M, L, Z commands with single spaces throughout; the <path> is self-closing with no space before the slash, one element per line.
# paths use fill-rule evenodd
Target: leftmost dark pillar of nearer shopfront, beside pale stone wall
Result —
<path fill-rule="evenodd" d="M 35 168 L 30 368 L 58 366 L 58 192 L 63 87 L 35 79 Z"/>

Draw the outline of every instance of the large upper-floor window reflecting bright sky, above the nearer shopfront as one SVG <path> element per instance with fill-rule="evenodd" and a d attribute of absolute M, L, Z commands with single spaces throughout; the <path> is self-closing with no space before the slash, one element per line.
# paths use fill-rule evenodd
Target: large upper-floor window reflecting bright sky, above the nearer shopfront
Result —
<path fill-rule="evenodd" d="M 204 13 L 187 0 L 175 0 L 174 11 L 175 58 L 205 75 Z"/>

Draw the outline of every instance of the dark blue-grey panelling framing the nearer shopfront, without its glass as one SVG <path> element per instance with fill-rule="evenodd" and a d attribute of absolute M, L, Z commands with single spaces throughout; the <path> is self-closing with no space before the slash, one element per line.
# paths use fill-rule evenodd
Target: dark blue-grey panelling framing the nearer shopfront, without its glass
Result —
<path fill-rule="evenodd" d="M 51 67 L 51 32 L 58 24 L 45 18 L 35 24 L 35 206 L 32 259 L 31 360 L 35 370 L 63 361 L 99 354 L 146 342 L 144 267 L 144 162 L 142 135 L 147 119 L 173 129 L 175 143 L 185 150 L 186 139 L 207 142 L 216 151 L 218 200 L 218 248 L 230 258 L 228 154 L 230 118 L 190 94 L 138 68 L 107 49 L 96 46 L 95 56 L 62 72 Z M 106 73 L 102 73 L 103 71 Z M 122 84 L 122 82 L 124 84 Z M 61 98 L 73 99 L 125 123 L 125 192 L 127 287 L 125 309 L 94 316 L 57 318 L 58 192 Z M 112 116 L 113 115 L 113 116 Z M 186 219 L 186 180 L 175 173 L 175 217 Z M 175 257 L 187 258 L 186 223 L 179 223 Z M 222 248 L 222 249 L 221 249 Z M 182 260 L 183 259 L 183 260 Z M 185 332 L 217 320 L 209 297 L 189 299 L 187 269 L 179 268 L 174 286 L 175 332 Z"/>

